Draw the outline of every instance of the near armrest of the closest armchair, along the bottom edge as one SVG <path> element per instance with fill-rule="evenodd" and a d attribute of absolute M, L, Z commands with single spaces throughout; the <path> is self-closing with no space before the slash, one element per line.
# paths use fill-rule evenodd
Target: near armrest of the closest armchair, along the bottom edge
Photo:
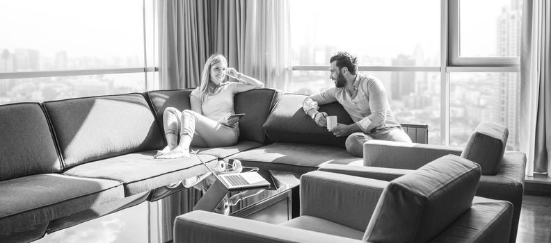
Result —
<path fill-rule="evenodd" d="M 193 211 L 174 222 L 174 242 L 362 242 L 251 219 Z"/>

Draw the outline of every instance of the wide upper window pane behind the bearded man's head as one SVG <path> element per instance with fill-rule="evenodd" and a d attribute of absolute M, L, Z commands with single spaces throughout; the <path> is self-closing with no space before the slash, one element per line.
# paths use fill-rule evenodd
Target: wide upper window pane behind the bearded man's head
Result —
<path fill-rule="evenodd" d="M 356 53 L 363 66 L 440 63 L 438 1 L 293 0 L 291 5 L 294 65 L 328 66 L 330 56 L 342 50 Z"/>

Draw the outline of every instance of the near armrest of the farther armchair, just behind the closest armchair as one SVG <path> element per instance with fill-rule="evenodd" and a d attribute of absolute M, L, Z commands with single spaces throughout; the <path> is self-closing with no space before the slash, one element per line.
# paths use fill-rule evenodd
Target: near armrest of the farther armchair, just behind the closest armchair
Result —
<path fill-rule="evenodd" d="M 392 181 L 395 178 L 404 176 L 405 174 L 409 174 L 414 171 L 413 169 L 394 169 L 385 167 L 337 164 L 322 165 L 321 167 L 319 167 L 318 170 L 338 174 L 346 174 L 350 176 L 358 176 L 363 178 L 372 178 L 381 181 Z"/>

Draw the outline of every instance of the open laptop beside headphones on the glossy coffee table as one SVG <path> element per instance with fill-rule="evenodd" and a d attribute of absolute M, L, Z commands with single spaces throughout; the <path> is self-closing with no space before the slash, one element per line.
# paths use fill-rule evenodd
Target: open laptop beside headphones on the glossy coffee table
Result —
<path fill-rule="evenodd" d="M 270 183 L 266 181 L 260 174 L 255 172 L 241 172 L 236 174 L 221 174 L 218 175 L 201 159 L 200 156 L 195 154 L 199 161 L 211 171 L 211 173 L 216 176 L 218 181 L 227 188 L 227 190 L 243 190 L 248 188 L 257 188 L 257 187 L 269 187 Z"/>

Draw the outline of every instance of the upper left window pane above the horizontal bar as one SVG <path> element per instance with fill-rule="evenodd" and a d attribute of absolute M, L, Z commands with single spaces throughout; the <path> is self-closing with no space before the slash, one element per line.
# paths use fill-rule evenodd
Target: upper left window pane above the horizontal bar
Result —
<path fill-rule="evenodd" d="M 6 1 L 0 70 L 143 67 L 142 8 L 131 0 Z"/>

